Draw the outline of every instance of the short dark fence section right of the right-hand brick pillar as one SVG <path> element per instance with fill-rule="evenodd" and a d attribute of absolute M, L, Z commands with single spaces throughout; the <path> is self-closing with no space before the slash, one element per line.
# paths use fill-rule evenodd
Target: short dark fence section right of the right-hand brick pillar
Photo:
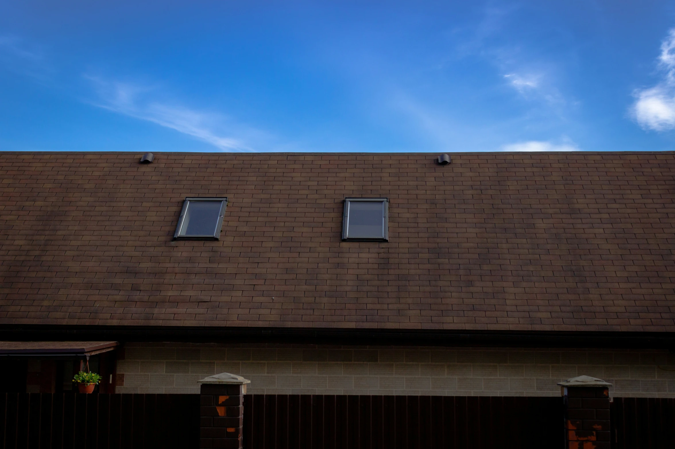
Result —
<path fill-rule="evenodd" d="M 675 399 L 614 398 L 612 448 L 675 448 Z"/>

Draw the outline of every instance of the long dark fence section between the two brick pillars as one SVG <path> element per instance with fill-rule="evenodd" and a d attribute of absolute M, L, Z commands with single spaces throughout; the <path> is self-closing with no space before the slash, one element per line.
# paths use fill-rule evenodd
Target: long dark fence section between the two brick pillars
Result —
<path fill-rule="evenodd" d="M 246 449 L 562 448 L 560 397 L 244 396 Z"/>

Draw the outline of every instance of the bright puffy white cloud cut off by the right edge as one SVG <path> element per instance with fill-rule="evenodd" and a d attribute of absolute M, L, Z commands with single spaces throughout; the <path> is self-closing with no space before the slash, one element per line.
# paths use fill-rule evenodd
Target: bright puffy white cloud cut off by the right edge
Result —
<path fill-rule="evenodd" d="M 657 85 L 633 92 L 631 113 L 643 129 L 675 129 L 675 28 L 661 42 L 658 66 L 663 77 Z"/>

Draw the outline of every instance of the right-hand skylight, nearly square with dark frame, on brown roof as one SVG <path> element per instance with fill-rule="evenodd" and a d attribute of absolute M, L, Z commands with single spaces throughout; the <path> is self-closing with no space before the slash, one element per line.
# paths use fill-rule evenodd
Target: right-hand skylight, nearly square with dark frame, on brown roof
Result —
<path fill-rule="evenodd" d="M 386 242 L 388 205 L 386 198 L 346 198 L 342 240 Z"/>

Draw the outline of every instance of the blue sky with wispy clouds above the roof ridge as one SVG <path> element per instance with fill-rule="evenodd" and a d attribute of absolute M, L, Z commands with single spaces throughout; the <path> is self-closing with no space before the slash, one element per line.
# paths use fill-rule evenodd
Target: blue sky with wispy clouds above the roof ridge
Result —
<path fill-rule="evenodd" d="M 0 149 L 675 149 L 675 3 L 5 1 Z"/>

